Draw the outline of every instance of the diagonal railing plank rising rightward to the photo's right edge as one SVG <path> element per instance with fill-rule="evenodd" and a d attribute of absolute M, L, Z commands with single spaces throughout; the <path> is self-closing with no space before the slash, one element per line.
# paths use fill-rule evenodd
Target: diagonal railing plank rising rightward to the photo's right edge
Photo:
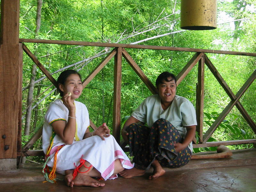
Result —
<path fill-rule="evenodd" d="M 244 83 L 241 89 L 236 93 L 236 99 L 231 100 L 228 106 L 220 113 L 217 119 L 213 122 L 212 126 L 205 132 L 203 136 L 203 143 L 206 143 L 207 140 L 212 136 L 212 133 L 217 129 L 223 119 L 228 115 L 230 110 L 235 106 L 237 101 L 242 97 L 244 92 L 248 89 L 248 87 L 252 84 L 254 79 L 256 78 L 256 70 L 252 73 L 252 75 L 248 78 L 248 80 Z"/>

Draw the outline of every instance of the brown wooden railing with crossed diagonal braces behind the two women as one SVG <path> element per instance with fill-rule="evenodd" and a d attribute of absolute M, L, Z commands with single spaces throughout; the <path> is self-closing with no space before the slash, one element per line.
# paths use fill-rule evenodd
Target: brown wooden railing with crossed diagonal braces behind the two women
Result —
<path fill-rule="evenodd" d="M 152 46 L 152 45 L 133 45 L 133 44 L 114 44 L 114 43 L 97 43 L 97 42 L 80 42 L 80 41 L 56 41 L 56 40 L 40 40 L 40 39 L 20 39 L 20 44 L 23 46 L 23 50 L 28 54 L 28 56 L 34 61 L 34 63 L 41 69 L 45 76 L 57 87 L 56 80 L 51 76 L 51 74 L 44 68 L 40 61 L 36 58 L 32 52 L 23 43 L 44 43 L 44 44 L 69 44 L 69 45 L 84 45 L 84 46 L 100 46 L 100 47 L 113 47 L 114 49 L 100 62 L 100 64 L 84 79 L 83 88 L 89 84 L 89 82 L 95 77 L 100 70 L 109 62 L 111 58 L 115 58 L 114 67 L 114 107 L 113 107 L 113 136 L 116 138 L 117 142 L 120 143 L 120 109 L 121 109 L 121 68 L 122 68 L 122 56 L 129 63 L 132 69 L 140 77 L 140 79 L 146 84 L 148 89 L 156 94 L 155 86 L 150 82 L 148 77 L 143 73 L 140 67 L 132 59 L 130 54 L 125 48 L 132 49 L 154 49 L 154 50 L 169 50 L 169 51 L 184 51 L 184 52 L 196 52 L 194 56 L 188 61 L 186 66 L 177 75 L 177 86 L 185 78 L 188 72 L 198 63 L 198 85 L 196 90 L 196 117 L 197 117 L 197 127 L 196 131 L 199 133 L 199 143 L 193 144 L 194 148 L 199 147 L 212 147 L 220 145 L 235 145 L 235 144 L 248 144 L 256 143 L 256 139 L 250 140 L 229 140 L 229 141 L 216 141 L 207 142 L 207 140 L 212 136 L 213 132 L 217 129 L 223 119 L 228 115 L 230 110 L 236 105 L 244 119 L 247 121 L 252 131 L 256 133 L 256 124 L 253 122 L 250 115 L 243 108 L 239 99 L 242 97 L 244 92 L 252 84 L 256 78 L 256 70 L 236 93 L 236 95 L 230 90 L 228 84 L 221 77 L 218 70 L 214 67 L 210 59 L 205 53 L 215 53 L 215 54 L 231 54 L 231 55 L 243 55 L 243 56 L 253 56 L 256 57 L 256 53 L 248 52 L 232 52 L 232 51 L 220 51 L 220 50 L 207 50 L 207 49 L 192 49 L 192 48 L 182 48 L 182 47 L 167 47 L 167 46 Z M 205 65 L 211 70 L 212 74 L 218 80 L 222 88 L 230 97 L 231 101 L 227 107 L 221 112 L 218 118 L 210 126 L 210 128 L 203 134 L 203 118 L 204 118 L 204 66 Z M 96 126 L 90 121 L 93 129 Z M 18 148 L 17 156 L 43 156 L 42 150 L 29 150 L 30 146 L 33 145 L 36 140 L 42 135 L 42 127 L 31 137 L 31 139 L 26 143 L 26 145 L 21 149 Z M 21 134 L 18 136 L 18 143 L 21 143 Z M 125 149 L 124 142 L 120 145 Z M 127 151 L 127 148 L 125 149 Z"/>

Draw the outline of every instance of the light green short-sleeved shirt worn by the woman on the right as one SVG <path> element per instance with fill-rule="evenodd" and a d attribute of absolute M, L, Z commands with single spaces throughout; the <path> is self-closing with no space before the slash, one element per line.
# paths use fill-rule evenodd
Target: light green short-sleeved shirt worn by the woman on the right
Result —
<path fill-rule="evenodd" d="M 143 123 L 147 123 L 149 127 L 156 120 L 164 118 L 180 132 L 183 138 L 187 133 L 186 126 L 197 125 L 193 104 L 188 99 L 178 95 L 175 95 L 172 104 L 166 110 L 163 110 L 161 106 L 159 95 L 149 96 L 132 113 L 132 116 Z M 188 147 L 193 151 L 192 142 Z"/>

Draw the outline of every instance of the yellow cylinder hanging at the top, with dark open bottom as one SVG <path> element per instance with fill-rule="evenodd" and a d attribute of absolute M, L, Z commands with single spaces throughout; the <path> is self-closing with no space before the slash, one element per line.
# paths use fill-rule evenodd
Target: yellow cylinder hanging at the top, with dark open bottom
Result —
<path fill-rule="evenodd" d="M 217 28 L 217 0 L 181 0 L 180 28 L 209 30 Z"/>

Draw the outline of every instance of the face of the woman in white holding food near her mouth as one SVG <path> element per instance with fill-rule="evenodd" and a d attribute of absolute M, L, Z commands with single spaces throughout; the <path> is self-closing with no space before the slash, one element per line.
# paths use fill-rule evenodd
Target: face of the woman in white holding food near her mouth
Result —
<path fill-rule="evenodd" d="M 77 74 L 70 74 L 65 84 L 59 84 L 59 88 L 63 92 L 63 95 L 71 92 L 71 100 L 77 99 L 83 91 L 82 81 Z"/>

